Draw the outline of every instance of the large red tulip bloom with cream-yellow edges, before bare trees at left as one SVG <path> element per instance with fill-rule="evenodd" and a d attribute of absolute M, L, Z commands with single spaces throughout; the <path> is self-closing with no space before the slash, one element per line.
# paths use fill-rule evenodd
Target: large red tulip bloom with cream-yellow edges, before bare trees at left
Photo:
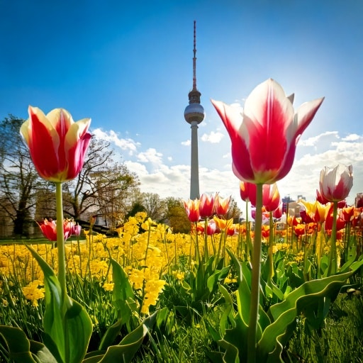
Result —
<path fill-rule="evenodd" d="M 63 108 L 55 108 L 47 116 L 37 107 L 29 106 L 28 112 L 21 135 L 40 177 L 56 182 L 77 177 L 91 141 L 87 133 L 91 119 L 74 122 Z"/>

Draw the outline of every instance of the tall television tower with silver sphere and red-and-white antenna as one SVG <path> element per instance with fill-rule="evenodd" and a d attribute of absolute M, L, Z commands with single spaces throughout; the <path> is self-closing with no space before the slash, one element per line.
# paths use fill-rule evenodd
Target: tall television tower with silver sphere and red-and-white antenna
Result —
<path fill-rule="evenodd" d="M 196 89 L 196 21 L 193 54 L 193 89 L 188 94 L 189 105 L 185 108 L 184 118 L 191 125 L 190 199 L 199 199 L 198 125 L 204 119 L 204 108 L 201 106 L 201 92 Z"/>

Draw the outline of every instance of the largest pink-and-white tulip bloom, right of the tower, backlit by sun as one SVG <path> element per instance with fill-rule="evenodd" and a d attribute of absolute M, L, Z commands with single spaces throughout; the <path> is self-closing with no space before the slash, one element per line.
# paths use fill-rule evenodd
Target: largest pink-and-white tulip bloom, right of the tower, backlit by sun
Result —
<path fill-rule="evenodd" d="M 273 184 L 289 173 L 296 144 L 323 98 L 302 104 L 296 112 L 291 97 L 273 79 L 247 97 L 242 113 L 212 100 L 232 141 L 233 172 L 238 179 Z"/>

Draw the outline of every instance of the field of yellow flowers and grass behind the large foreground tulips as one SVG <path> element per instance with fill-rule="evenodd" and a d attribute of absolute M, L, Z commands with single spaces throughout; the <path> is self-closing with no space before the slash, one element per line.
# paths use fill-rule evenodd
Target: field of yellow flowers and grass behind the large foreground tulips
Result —
<path fill-rule="evenodd" d="M 338 233 L 340 274 L 357 263 L 362 253 L 361 209 L 349 208 L 349 223 Z M 347 208 L 340 210 L 341 216 L 343 211 Z M 288 218 L 286 225 L 279 222 L 263 225 L 264 311 L 285 301 L 306 281 L 326 276 L 330 233 L 319 223 L 303 223 L 294 216 Z M 211 224 L 215 229 L 208 234 Z M 81 238 L 67 242 L 68 292 L 86 307 L 91 317 L 93 333 L 89 351 L 118 344 L 145 319 L 152 317 L 155 321 L 149 324 L 147 337 L 143 337 L 140 344 L 131 340 L 135 352 L 125 361 L 223 362 L 220 359 L 225 357 L 225 362 L 232 362 L 226 354 L 228 344 L 232 343 L 228 342 L 228 333 L 227 337 L 222 334 L 238 328 L 235 314 L 238 306 L 242 306 L 238 302 L 241 298 L 238 268 L 248 279 L 248 251 L 253 243 L 253 229 L 250 222 L 233 224 L 233 220 L 214 217 L 192 223 L 189 235 L 175 234 L 167 225 L 154 223 L 145 213 L 138 213 L 118 229 L 118 237 L 84 230 Z M 269 261 L 269 245 L 272 245 L 272 262 Z M 57 272 L 57 247 L 38 243 L 33 248 Z M 42 269 L 26 245 L 20 243 L 0 247 L 0 268 L 1 324 L 18 326 L 30 340 L 41 340 L 45 310 Z M 357 269 L 338 288 L 331 289 L 330 298 L 333 301 L 338 296 L 340 304 L 362 308 L 361 287 L 362 269 Z M 294 334 L 302 334 L 308 340 L 317 332 L 328 332 L 326 321 L 331 309 L 329 299 L 323 299 L 323 306 L 311 305 L 311 311 L 304 311 L 302 307 L 296 313 Z M 362 328 L 362 314 L 358 321 Z M 350 329 L 350 335 L 354 333 L 354 327 L 346 328 Z M 233 340 L 238 340 L 238 330 L 235 333 Z M 312 340 L 308 342 L 312 347 Z M 4 342 L 2 347 L 6 361 Z M 314 358 L 311 352 L 304 355 L 305 350 L 301 339 L 291 338 L 281 356 L 286 362 L 298 362 L 297 359 L 302 358 L 306 362 L 318 362 L 316 352 Z M 341 348 L 337 352 L 342 354 L 340 351 Z M 361 337 L 357 336 L 354 351 L 357 357 L 362 356 Z M 353 357 L 352 352 L 350 354 Z M 325 362 L 338 362 L 341 358 L 333 356 L 331 359 Z M 358 358 L 351 359 L 340 362 L 359 362 Z"/>

